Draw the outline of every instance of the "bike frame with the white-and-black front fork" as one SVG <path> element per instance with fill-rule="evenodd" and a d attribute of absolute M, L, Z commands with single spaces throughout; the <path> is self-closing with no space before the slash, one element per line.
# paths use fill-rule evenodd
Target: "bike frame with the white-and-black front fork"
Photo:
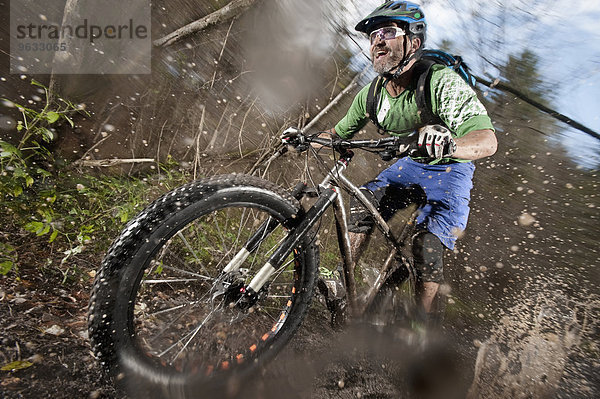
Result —
<path fill-rule="evenodd" d="M 265 265 L 260 268 L 247 287 L 245 287 L 246 298 L 249 298 L 251 302 L 257 298 L 258 292 L 265 286 L 269 278 L 280 268 L 293 248 L 297 247 L 300 239 L 316 225 L 321 216 L 323 216 L 323 214 L 331 206 L 333 206 L 334 209 L 337 238 L 343 263 L 343 277 L 346 288 L 346 297 L 352 316 L 358 316 L 368 308 L 391 271 L 393 271 L 394 260 L 398 257 L 407 267 L 409 276 L 414 278 L 412 266 L 410 262 L 408 262 L 408 254 L 404 253 L 405 246 L 403 243 L 408 234 L 409 226 L 413 225 L 417 212 L 413 212 L 409 221 L 405 224 L 404 229 L 400 233 L 400 236 L 397 238 L 377 208 L 367 199 L 367 197 L 356 185 L 354 185 L 346 178 L 346 176 L 344 176 L 344 170 L 350 163 L 352 156 L 353 154 L 351 151 L 346 151 L 344 154 L 342 154 L 340 159 L 325 175 L 323 181 L 318 185 L 316 202 L 306 211 L 306 213 L 304 213 L 304 215 L 302 215 L 302 217 L 298 218 L 298 222 L 290 228 L 285 240 L 274 251 Z M 304 188 L 305 185 L 302 183 L 296 186 L 292 194 L 297 199 L 300 199 L 304 194 L 306 194 L 303 191 Z M 354 279 L 354 269 L 357 259 L 352 259 L 348 218 L 344 199 L 341 194 L 342 189 L 349 191 L 350 194 L 355 196 L 368 210 L 375 221 L 375 225 L 383 233 L 383 236 L 392 247 L 392 250 L 386 258 L 380 275 L 370 288 L 365 297 L 365 301 L 363 301 L 361 305 L 359 305 L 357 301 L 356 284 Z M 244 245 L 244 248 L 242 248 L 232 259 L 232 261 L 229 262 L 229 264 L 225 267 L 224 272 L 229 273 L 239 270 L 244 260 L 258 247 L 260 242 L 262 242 L 262 240 L 264 240 L 264 238 L 268 236 L 269 233 L 275 229 L 275 227 L 277 227 L 278 224 L 279 222 L 275 221 L 273 218 L 269 218 L 267 221 L 265 221 Z"/>

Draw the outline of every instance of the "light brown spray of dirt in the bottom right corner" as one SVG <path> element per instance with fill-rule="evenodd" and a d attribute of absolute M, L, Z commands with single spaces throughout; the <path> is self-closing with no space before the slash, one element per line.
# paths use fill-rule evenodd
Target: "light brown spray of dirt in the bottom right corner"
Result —
<path fill-rule="evenodd" d="M 584 302 L 546 287 L 508 309 L 481 343 L 467 396 L 600 397 L 600 298 Z"/>

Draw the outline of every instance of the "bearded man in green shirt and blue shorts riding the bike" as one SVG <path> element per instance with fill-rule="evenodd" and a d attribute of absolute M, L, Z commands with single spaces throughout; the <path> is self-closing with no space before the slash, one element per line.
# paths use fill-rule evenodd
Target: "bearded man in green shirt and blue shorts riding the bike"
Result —
<path fill-rule="evenodd" d="M 380 210 L 384 199 L 387 203 L 402 202 L 398 189 L 418 185 L 427 196 L 412 248 L 419 277 L 418 300 L 430 313 L 443 278 L 444 247 L 453 249 L 467 224 L 475 169 L 471 161 L 496 152 L 495 130 L 475 91 L 443 65 L 432 67 L 430 87 L 425 91 L 430 93 L 436 122 L 422 120 L 417 112 L 413 72 L 426 33 L 425 17 L 418 5 L 387 1 L 355 29 L 370 38 L 373 68 L 385 79 L 377 105 L 379 124 L 390 135 L 419 133 L 420 156 L 399 159 L 361 189 Z M 346 115 L 323 137 L 347 139 L 368 123 L 369 87 L 356 95 Z M 356 261 L 373 221 L 365 218 L 364 208 L 357 203 L 351 203 L 350 208 L 350 241 Z"/>

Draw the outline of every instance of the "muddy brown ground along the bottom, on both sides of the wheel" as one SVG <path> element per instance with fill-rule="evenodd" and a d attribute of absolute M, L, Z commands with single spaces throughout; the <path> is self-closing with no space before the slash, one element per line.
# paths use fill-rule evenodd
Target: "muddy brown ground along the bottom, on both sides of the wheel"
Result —
<path fill-rule="evenodd" d="M 95 268 L 80 261 L 84 270 Z M 18 278 L 0 278 L 0 396 L 147 398 L 143 382 L 126 381 L 127 393 L 115 389 L 90 352 L 93 272 L 64 282 L 56 269 L 27 264 L 35 262 L 24 262 Z M 501 313 L 489 331 L 455 319 L 411 335 L 358 325 L 334 330 L 316 294 L 299 333 L 260 376 L 230 384 L 228 395 L 197 397 L 599 397 L 600 301 L 585 298 L 545 286 Z"/>

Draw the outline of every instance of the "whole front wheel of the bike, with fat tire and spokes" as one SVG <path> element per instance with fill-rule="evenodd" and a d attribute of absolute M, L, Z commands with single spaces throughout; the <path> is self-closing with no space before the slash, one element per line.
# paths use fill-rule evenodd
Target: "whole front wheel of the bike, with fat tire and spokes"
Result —
<path fill-rule="evenodd" d="M 273 357 L 308 310 L 316 245 L 304 237 L 251 304 L 243 288 L 301 212 L 284 190 L 244 175 L 156 200 L 128 224 L 94 282 L 90 340 L 105 369 L 181 392 Z M 267 221 L 278 223 L 257 244 Z M 243 263 L 232 268 L 240 253 Z"/>

